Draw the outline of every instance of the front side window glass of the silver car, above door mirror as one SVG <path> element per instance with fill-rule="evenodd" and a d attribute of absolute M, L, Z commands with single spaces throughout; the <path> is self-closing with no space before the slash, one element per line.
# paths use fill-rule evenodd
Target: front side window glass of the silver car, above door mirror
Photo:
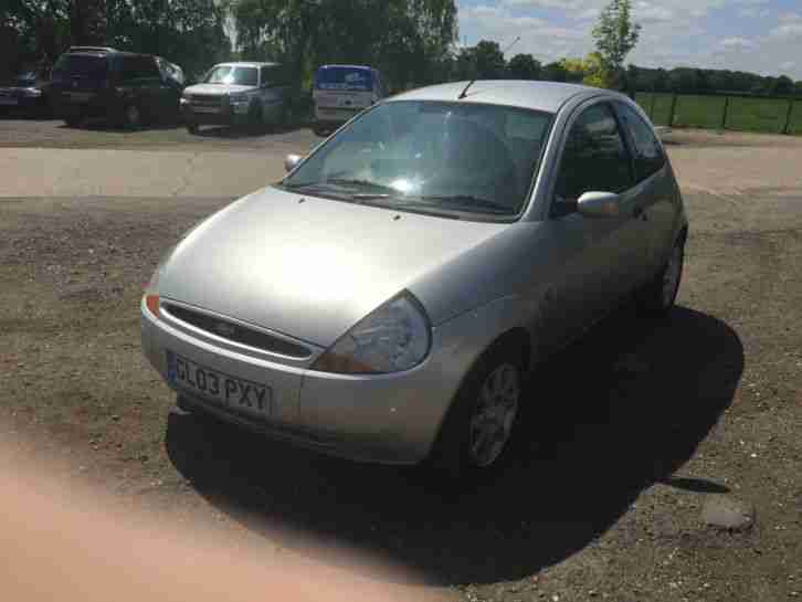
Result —
<path fill-rule="evenodd" d="M 589 107 L 573 123 L 562 151 L 555 193 L 576 201 L 584 192 L 623 192 L 633 186 L 632 163 L 618 122 L 606 104 Z M 552 215 L 564 203 L 552 203 Z"/>

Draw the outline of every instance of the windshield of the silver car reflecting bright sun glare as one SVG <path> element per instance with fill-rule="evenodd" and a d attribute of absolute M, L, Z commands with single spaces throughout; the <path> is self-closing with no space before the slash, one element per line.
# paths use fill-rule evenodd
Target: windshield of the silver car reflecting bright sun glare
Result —
<path fill-rule="evenodd" d="M 513 216 L 526 204 L 552 115 L 398 101 L 367 112 L 282 182 L 412 211 Z"/>

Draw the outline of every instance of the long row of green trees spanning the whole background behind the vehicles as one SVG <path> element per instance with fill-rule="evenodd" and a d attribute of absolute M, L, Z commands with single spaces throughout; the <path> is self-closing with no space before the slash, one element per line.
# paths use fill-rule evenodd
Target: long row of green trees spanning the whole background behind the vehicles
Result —
<path fill-rule="evenodd" d="M 541 64 L 505 59 L 496 41 L 457 47 L 454 0 L 2 0 L 0 77 L 52 64 L 70 45 L 159 54 L 190 75 L 215 62 L 281 61 L 309 85 L 324 63 L 370 64 L 391 89 L 472 78 L 577 82 L 627 92 L 802 96 L 787 76 L 630 65 L 612 80 L 601 56 Z M 236 47 L 231 33 L 235 31 Z M 506 43 L 507 41 L 505 41 Z"/>

